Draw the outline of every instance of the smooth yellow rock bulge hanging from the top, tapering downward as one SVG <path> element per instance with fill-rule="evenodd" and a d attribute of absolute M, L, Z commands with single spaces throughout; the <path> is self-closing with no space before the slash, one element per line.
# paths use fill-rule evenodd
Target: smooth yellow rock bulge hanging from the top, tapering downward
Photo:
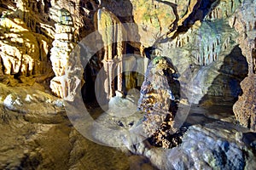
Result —
<path fill-rule="evenodd" d="M 138 34 L 145 47 L 154 44 L 158 37 L 169 31 L 169 26 L 175 22 L 175 3 L 161 1 L 131 1 L 133 17 L 138 26 Z M 160 10 L 165 8 L 165 10 Z"/>

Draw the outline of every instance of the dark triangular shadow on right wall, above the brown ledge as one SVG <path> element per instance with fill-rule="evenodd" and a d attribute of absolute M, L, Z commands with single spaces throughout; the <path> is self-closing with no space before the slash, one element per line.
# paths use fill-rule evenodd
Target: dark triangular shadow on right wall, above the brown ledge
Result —
<path fill-rule="evenodd" d="M 224 57 L 218 72 L 218 77 L 215 77 L 202 100 L 212 99 L 219 105 L 234 105 L 242 93 L 240 82 L 248 74 L 247 59 L 241 53 L 239 45 L 236 45 L 230 54 Z"/>

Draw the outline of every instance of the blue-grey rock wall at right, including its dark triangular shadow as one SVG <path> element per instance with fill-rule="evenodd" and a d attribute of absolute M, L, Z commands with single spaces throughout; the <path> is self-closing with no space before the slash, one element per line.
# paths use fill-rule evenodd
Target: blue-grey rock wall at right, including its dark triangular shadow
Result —
<path fill-rule="evenodd" d="M 234 102 L 239 94 L 239 83 L 247 74 L 247 61 L 240 48 L 237 48 L 238 33 L 230 27 L 228 19 L 241 6 L 241 2 L 189 3 L 189 16 L 184 15 L 185 20 L 178 21 L 177 30 L 166 36 L 171 37 L 160 38 L 154 48 L 160 55 L 171 58 L 177 71 L 184 75 L 179 82 L 187 90 L 186 94 L 193 94 L 189 102 L 199 104 L 206 98 Z M 227 14 L 209 19 L 209 14 L 217 10 L 218 5 L 225 5 L 222 11 Z M 202 18 L 196 18 L 197 13 Z"/>

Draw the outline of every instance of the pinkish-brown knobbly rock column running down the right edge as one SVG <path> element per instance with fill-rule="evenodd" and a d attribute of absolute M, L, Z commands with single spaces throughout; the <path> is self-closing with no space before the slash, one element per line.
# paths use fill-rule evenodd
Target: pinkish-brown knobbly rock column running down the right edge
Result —
<path fill-rule="evenodd" d="M 249 14 L 249 16 L 248 16 Z M 247 18 L 247 20 L 244 20 Z M 242 54 L 247 58 L 248 77 L 241 82 L 242 94 L 233 106 L 236 119 L 241 125 L 256 131 L 256 5 L 253 1 L 247 0 L 242 3 L 236 14 L 230 19 L 240 36 L 237 42 L 241 47 Z"/>

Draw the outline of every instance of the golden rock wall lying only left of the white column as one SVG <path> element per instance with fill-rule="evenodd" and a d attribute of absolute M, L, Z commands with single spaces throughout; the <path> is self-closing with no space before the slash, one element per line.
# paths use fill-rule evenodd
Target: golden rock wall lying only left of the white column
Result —
<path fill-rule="evenodd" d="M 9 86 L 32 85 L 38 77 L 47 79 L 51 72 L 48 54 L 53 31 L 44 11 L 38 14 L 38 8 L 44 8 L 44 4 L 7 0 L 1 5 L 1 82 Z"/>

